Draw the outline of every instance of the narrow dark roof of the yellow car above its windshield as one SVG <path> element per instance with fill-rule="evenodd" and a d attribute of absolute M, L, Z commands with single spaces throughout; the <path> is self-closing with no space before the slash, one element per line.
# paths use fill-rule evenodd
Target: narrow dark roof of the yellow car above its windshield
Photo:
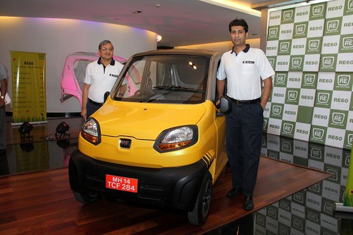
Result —
<path fill-rule="evenodd" d="M 145 56 L 145 55 L 196 55 L 196 56 L 206 56 L 212 57 L 220 54 L 219 52 L 211 50 L 201 50 L 201 49 L 158 49 L 150 50 L 146 52 L 141 52 L 134 54 L 133 56 Z"/>

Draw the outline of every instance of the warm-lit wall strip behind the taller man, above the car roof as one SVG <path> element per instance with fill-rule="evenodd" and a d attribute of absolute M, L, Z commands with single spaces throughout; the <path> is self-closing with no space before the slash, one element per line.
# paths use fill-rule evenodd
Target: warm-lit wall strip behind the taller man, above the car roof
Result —
<path fill-rule="evenodd" d="M 250 44 L 250 47 L 260 48 L 260 39 L 248 39 L 246 41 L 247 44 Z M 181 46 L 175 47 L 178 49 L 204 49 L 204 50 L 213 50 L 224 53 L 228 50 L 231 50 L 233 44 L 229 41 L 221 42 L 221 43 L 207 43 L 207 44 L 199 44 L 199 45 L 190 45 L 190 46 Z"/>

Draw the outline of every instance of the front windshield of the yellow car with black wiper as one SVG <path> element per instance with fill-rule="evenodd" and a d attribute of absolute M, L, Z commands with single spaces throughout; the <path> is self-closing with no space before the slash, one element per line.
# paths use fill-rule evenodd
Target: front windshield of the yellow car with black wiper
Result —
<path fill-rule="evenodd" d="M 190 55 L 134 57 L 112 97 L 150 103 L 205 101 L 210 58 Z"/>

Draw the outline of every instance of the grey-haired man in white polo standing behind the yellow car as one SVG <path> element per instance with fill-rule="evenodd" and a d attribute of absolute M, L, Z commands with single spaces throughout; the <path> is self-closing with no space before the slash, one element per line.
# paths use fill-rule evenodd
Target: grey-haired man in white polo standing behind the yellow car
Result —
<path fill-rule="evenodd" d="M 85 119 L 103 105 L 104 93 L 110 92 L 124 67 L 113 59 L 114 47 L 109 40 L 99 44 L 98 53 L 100 58 L 87 65 L 83 80 L 81 116 Z M 120 89 L 119 95 L 123 96 L 125 92 L 126 84 Z"/>

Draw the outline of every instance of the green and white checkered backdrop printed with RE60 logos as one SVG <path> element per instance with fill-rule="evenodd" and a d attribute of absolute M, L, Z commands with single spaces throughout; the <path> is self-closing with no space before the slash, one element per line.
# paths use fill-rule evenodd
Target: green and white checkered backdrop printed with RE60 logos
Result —
<path fill-rule="evenodd" d="M 276 75 L 264 131 L 351 149 L 353 0 L 272 11 L 268 25 Z"/>

